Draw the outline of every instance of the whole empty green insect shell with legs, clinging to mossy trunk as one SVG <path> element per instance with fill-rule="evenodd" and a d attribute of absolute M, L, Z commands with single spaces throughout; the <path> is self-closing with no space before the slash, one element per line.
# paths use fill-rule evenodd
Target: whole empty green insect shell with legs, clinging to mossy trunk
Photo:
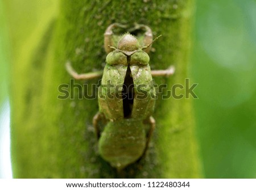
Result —
<path fill-rule="evenodd" d="M 174 67 L 151 71 L 147 53 L 155 40 L 152 40 L 152 31 L 148 26 L 135 26 L 146 31 L 139 39 L 142 46 L 135 36 L 125 33 L 118 37 L 117 46 L 113 47 L 115 27 L 123 26 L 114 23 L 105 32 L 104 47 L 108 56 L 103 72 L 77 74 L 70 62 L 66 66 L 75 79 L 102 77 L 98 89 L 99 111 L 93 117 L 98 150 L 105 161 L 122 170 L 143 156 L 155 128 L 152 76 L 171 75 Z M 102 132 L 99 123 L 105 124 Z"/>

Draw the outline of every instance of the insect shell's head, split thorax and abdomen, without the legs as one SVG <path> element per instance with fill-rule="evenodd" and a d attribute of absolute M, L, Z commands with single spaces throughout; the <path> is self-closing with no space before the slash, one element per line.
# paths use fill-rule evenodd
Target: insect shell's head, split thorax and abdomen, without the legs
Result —
<path fill-rule="evenodd" d="M 100 113 L 109 123 L 101 134 L 99 150 L 113 167 L 123 168 L 137 161 L 146 149 L 148 132 L 143 123 L 149 121 L 155 104 L 148 62 L 148 54 L 139 48 L 137 39 L 129 33 L 122 36 L 117 49 L 106 57 L 98 103 Z M 109 82 L 113 90 L 103 90 L 102 86 L 108 86 Z M 117 86 L 127 91 L 120 91 L 115 88 Z M 137 86 L 143 88 L 142 97 Z"/>

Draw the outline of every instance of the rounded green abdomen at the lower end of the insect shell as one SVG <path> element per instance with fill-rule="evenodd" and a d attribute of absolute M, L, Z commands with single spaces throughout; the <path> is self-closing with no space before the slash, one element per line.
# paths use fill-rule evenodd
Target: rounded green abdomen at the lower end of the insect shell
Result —
<path fill-rule="evenodd" d="M 144 125 L 138 119 L 109 122 L 99 141 L 101 157 L 119 169 L 137 161 L 145 147 Z"/>

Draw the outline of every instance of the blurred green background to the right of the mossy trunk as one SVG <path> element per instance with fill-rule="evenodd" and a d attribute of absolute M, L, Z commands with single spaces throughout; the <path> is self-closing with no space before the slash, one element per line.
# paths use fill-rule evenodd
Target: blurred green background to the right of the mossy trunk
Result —
<path fill-rule="evenodd" d="M 192 73 L 207 178 L 256 176 L 253 1 L 197 1 Z"/>

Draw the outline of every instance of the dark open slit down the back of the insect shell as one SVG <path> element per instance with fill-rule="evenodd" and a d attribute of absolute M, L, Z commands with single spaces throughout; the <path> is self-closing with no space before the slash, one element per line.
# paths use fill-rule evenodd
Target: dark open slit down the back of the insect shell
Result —
<path fill-rule="evenodd" d="M 131 117 L 131 111 L 133 110 L 134 100 L 134 83 L 133 77 L 131 77 L 130 69 L 130 56 L 127 56 L 127 70 L 125 75 L 125 82 L 123 82 L 122 99 L 123 99 L 123 116 L 125 119 Z"/>

